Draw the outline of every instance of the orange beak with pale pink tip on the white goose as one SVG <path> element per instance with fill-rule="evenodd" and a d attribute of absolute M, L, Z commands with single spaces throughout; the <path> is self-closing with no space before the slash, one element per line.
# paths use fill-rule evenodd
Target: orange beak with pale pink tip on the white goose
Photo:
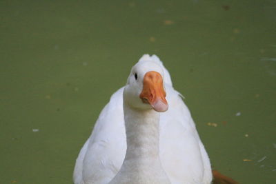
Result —
<path fill-rule="evenodd" d="M 157 112 L 168 110 L 168 102 L 166 101 L 166 92 L 161 74 L 154 71 L 145 74 L 140 99 L 144 103 L 149 103 Z"/>

